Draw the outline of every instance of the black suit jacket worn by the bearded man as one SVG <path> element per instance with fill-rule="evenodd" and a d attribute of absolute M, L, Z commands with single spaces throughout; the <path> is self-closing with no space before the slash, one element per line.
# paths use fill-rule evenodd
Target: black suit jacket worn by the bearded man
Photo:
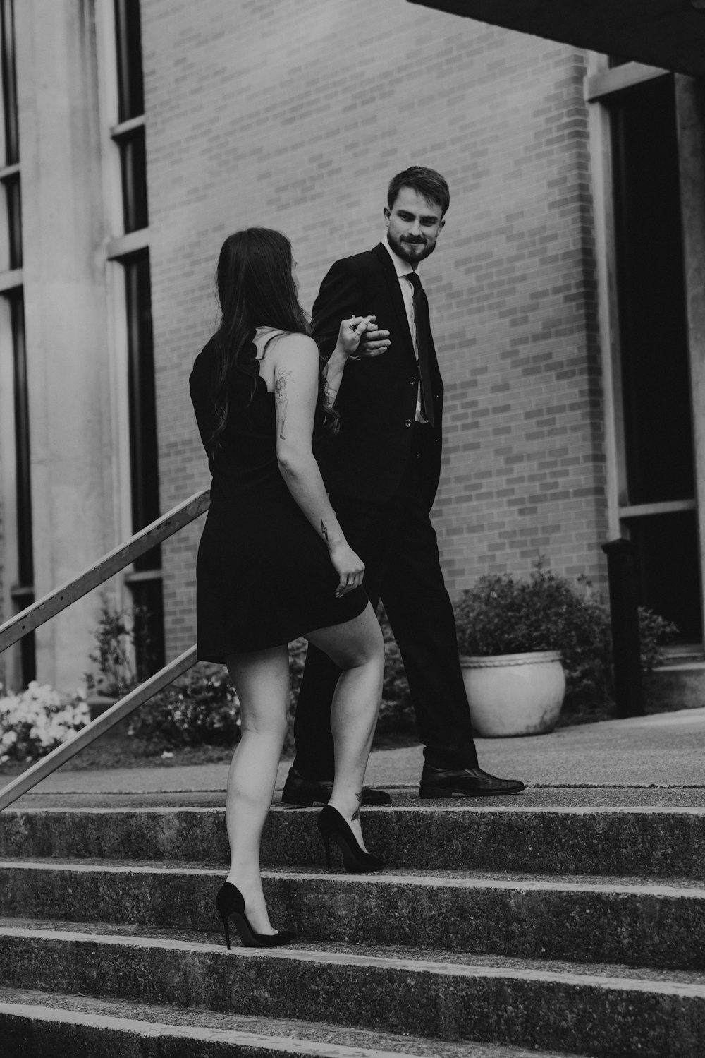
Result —
<path fill-rule="evenodd" d="M 320 456 L 326 485 L 332 494 L 384 503 L 402 480 L 416 433 L 422 488 L 430 509 L 441 473 L 443 382 L 431 340 L 434 423 L 414 431 L 416 358 L 400 280 L 382 242 L 335 261 L 320 285 L 313 307 L 313 336 L 327 359 L 335 348 L 340 321 L 352 315 L 375 315 L 376 326 L 389 331 L 391 344 L 378 357 L 346 364 L 335 401 L 340 433 L 326 442 Z"/>

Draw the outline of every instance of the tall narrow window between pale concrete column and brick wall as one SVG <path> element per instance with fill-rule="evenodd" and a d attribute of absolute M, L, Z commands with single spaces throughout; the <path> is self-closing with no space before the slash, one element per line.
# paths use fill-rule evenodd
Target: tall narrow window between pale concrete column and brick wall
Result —
<path fill-rule="evenodd" d="M 145 150 L 145 93 L 138 0 L 112 0 L 115 124 L 110 135 L 119 172 L 120 208 L 114 219 L 111 259 L 120 269 L 125 305 L 127 378 L 125 426 L 129 436 L 129 503 L 133 532 L 160 514 L 154 349 L 149 274 L 149 213 Z M 126 574 L 138 623 L 137 672 L 145 677 L 164 663 L 164 614 L 160 547 L 142 555 Z"/>

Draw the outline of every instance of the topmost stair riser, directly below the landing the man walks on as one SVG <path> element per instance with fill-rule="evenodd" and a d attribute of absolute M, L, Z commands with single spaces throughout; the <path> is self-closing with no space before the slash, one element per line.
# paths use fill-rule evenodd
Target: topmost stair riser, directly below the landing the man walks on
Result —
<path fill-rule="evenodd" d="M 322 865 L 315 810 L 270 813 L 264 865 Z M 367 809 L 368 847 L 390 867 L 705 879 L 705 814 Z M 0 856 L 180 860 L 224 865 L 224 814 L 0 815 Z"/>

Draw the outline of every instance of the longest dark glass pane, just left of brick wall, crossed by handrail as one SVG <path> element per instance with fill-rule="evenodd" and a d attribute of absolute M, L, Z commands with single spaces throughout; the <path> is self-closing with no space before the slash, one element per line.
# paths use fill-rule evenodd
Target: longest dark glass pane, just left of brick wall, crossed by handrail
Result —
<path fill-rule="evenodd" d="M 160 515 L 149 256 L 135 254 L 123 263 L 128 320 L 132 531 L 137 532 Z M 155 547 L 137 559 L 134 566 L 155 569 L 160 564 L 160 548 Z"/>

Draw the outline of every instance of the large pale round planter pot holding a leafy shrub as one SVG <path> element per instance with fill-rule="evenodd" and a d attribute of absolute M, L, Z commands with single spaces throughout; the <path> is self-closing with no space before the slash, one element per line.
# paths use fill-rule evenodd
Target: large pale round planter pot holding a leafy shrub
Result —
<path fill-rule="evenodd" d="M 461 657 L 476 734 L 482 738 L 553 731 L 565 694 L 558 651 Z"/>

